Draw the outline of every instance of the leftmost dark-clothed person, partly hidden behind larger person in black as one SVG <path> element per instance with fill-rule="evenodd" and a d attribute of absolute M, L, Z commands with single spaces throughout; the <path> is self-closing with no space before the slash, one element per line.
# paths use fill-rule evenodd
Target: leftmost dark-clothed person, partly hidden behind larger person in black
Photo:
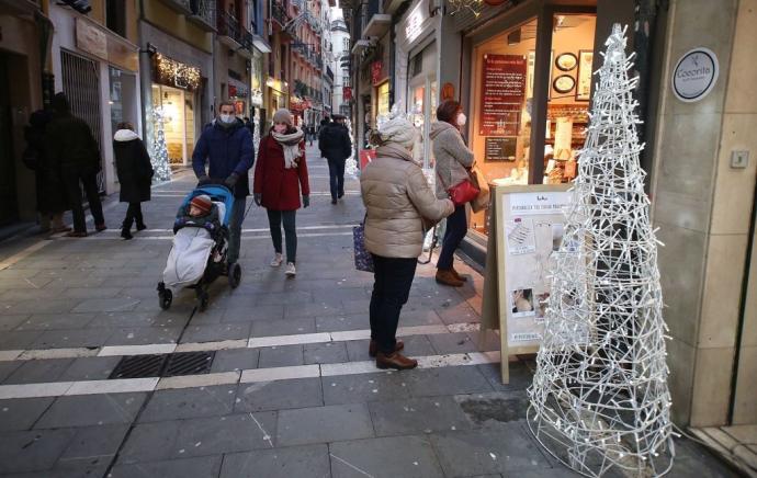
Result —
<path fill-rule="evenodd" d="M 34 171 L 39 225 L 43 231 L 57 234 L 68 232 L 71 228 L 63 221 L 63 215 L 69 206 L 60 177 L 60 163 L 52 162 L 45 152 L 45 134 L 52 120 L 47 111 L 32 113 L 29 126 L 24 128 L 26 149 L 22 159 L 26 168 Z"/>

